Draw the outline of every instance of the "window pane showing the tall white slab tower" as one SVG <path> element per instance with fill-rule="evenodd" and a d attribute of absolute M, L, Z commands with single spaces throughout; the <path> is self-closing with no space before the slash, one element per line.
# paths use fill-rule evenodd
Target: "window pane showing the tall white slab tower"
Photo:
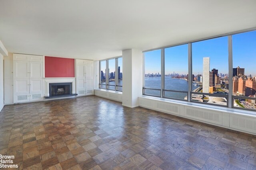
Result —
<path fill-rule="evenodd" d="M 228 106 L 228 36 L 192 43 L 192 101 Z"/>

